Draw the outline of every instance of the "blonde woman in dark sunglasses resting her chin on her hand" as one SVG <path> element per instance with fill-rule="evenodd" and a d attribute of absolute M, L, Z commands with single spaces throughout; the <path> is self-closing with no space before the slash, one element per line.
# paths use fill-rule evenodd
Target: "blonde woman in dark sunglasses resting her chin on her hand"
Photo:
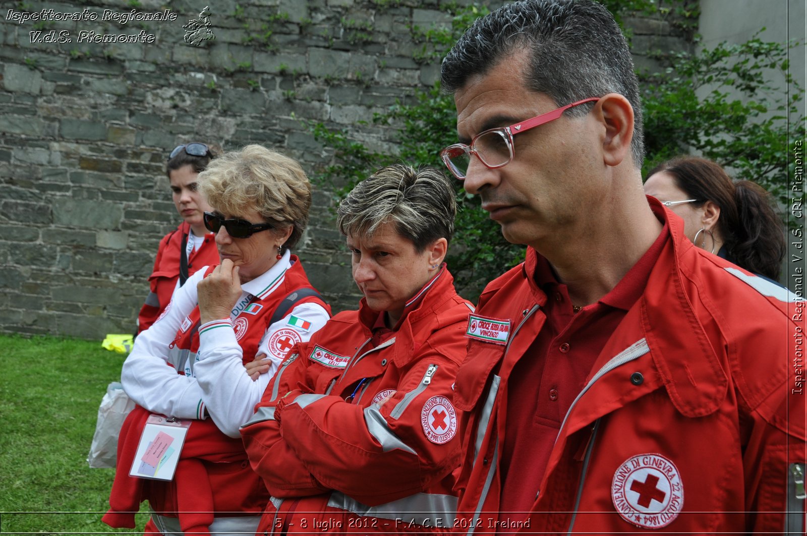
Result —
<path fill-rule="evenodd" d="M 269 495 L 249 467 L 239 426 L 286 352 L 308 341 L 330 308 L 290 250 L 311 206 L 311 185 L 296 161 L 249 145 L 215 158 L 198 181 L 212 207 L 204 222 L 221 264 L 188 278 L 123 363 L 123 388 L 138 405 L 121 429 L 103 520 L 133 527 L 130 512 L 148 499 L 147 532 L 251 536 Z M 268 374 L 253 380 L 245 364 L 264 358 Z M 150 413 L 190 422 L 169 482 L 128 475 Z"/>

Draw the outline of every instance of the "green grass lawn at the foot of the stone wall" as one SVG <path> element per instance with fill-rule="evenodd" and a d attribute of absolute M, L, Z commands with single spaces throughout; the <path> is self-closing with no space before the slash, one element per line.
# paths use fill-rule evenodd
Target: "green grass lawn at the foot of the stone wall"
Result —
<path fill-rule="evenodd" d="M 100 341 L 0 335 L 0 533 L 134 531 L 102 523 L 115 470 L 86 462 L 124 358 Z"/>

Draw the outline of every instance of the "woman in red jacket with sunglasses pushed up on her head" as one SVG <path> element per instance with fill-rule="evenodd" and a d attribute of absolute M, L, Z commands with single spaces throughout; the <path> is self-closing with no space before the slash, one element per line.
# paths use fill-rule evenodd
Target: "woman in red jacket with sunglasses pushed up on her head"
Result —
<path fill-rule="evenodd" d="M 177 287 L 203 266 L 218 264 L 219 252 L 213 235 L 207 232 L 203 216 L 209 211 L 199 191 L 197 175 L 204 171 L 217 152 L 197 141 L 177 145 L 168 157 L 165 173 L 171 185 L 171 196 L 182 223 L 160 241 L 154 269 L 148 276 L 149 292 L 137 316 L 137 333 L 157 320 Z"/>

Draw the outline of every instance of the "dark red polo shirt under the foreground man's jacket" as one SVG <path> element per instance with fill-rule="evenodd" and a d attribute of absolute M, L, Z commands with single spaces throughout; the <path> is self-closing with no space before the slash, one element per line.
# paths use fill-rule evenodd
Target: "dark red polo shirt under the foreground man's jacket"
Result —
<path fill-rule="evenodd" d="M 546 292 L 546 322 L 527 356 L 509 375 L 507 430 L 500 461 L 500 519 L 526 518 L 541 484 L 563 417 L 583 390 L 608 337 L 642 295 L 670 229 L 659 237 L 616 287 L 574 312 L 567 286 L 558 283 L 546 258 L 529 249 L 526 266 Z M 533 256 L 533 262 L 530 262 Z M 512 469 L 512 470 L 511 470 Z M 512 514 L 515 513 L 515 514 Z"/>

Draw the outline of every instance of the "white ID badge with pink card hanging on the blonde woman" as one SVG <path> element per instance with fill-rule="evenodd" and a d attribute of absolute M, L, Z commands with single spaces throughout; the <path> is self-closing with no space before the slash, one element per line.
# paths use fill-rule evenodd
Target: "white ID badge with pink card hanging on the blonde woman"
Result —
<path fill-rule="evenodd" d="M 177 470 L 179 453 L 190 428 L 190 419 L 152 414 L 148 417 L 129 476 L 141 479 L 170 480 Z"/>

